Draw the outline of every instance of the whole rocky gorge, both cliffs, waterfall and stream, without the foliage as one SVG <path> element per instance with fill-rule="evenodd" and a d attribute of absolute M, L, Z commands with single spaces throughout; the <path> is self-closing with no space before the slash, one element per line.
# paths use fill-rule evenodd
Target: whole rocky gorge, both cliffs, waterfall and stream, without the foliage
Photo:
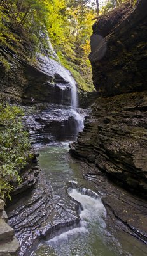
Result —
<path fill-rule="evenodd" d="M 12 67 L 1 68 L 1 100 L 23 106 L 34 149 L 5 207 L 20 250 L 0 255 L 146 255 L 146 11 L 146 0 L 124 3 L 95 22 L 97 93 L 78 92 L 80 108 L 53 51 L 31 64 L 29 45 L 1 46 Z"/>

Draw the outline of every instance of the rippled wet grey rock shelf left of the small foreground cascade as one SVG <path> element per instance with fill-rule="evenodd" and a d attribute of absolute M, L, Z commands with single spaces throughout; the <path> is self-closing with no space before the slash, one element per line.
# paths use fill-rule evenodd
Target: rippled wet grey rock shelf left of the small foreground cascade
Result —
<path fill-rule="evenodd" d="M 49 239 L 68 228 L 78 227 L 80 218 L 74 202 L 53 191 L 44 173 L 40 173 L 34 189 L 15 195 L 7 207 L 9 223 L 21 244 L 18 255 L 27 255 L 41 239 Z"/>

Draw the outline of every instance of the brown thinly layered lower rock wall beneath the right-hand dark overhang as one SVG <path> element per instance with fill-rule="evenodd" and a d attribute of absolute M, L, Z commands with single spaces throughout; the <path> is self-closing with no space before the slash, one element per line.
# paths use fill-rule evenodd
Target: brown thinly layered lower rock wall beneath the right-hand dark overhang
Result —
<path fill-rule="evenodd" d="M 139 103 L 140 102 L 140 103 Z M 98 98 L 71 154 L 146 197 L 147 92 Z"/>

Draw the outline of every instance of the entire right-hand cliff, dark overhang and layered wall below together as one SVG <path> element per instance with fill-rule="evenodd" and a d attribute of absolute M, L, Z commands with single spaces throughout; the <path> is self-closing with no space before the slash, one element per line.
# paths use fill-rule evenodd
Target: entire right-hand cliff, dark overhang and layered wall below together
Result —
<path fill-rule="evenodd" d="M 140 0 L 94 24 L 90 60 L 99 97 L 71 146 L 74 156 L 94 163 L 143 196 L 147 191 L 146 8 L 146 1 Z"/>

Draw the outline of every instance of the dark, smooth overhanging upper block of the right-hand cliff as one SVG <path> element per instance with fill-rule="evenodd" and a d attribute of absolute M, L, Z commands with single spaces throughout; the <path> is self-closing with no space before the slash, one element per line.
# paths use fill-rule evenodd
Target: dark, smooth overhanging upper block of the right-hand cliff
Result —
<path fill-rule="evenodd" d="M 94 86 L 104 97 L 146 90 L 146 0 L 116 8 L 93 26 Z"/>

